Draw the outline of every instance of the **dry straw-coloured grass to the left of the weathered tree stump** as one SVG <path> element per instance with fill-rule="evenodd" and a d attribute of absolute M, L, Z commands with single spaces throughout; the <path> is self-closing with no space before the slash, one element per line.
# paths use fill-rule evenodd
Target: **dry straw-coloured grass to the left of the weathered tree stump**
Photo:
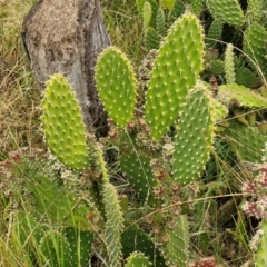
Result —
<path fill-rule="evenodd" d="M 38 91 L 20 30 L 31 0 L 0 0 L 0 159 L 20 147 L 41 145 Z"/>

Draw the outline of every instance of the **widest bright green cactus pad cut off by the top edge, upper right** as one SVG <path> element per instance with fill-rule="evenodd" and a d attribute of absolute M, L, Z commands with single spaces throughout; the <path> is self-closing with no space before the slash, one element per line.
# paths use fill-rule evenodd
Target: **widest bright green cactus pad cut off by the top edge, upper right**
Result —
<path fill-rule="evenodd" d="M 244 22 L 244 13 L 237 0 L 206 0 L 210 13 L 215 19 L 220 19 L 233 26 Z"/>

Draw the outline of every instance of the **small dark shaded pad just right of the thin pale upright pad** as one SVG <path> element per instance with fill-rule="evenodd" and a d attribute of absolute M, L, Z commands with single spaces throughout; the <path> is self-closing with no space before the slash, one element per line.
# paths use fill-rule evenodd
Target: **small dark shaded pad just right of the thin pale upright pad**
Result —
<path fill-rule="evenodd" d="M 236 83 L 247 88 L 259 88 L 261 86 L 259 77 L 246 67 L 236 68 Z"/>

